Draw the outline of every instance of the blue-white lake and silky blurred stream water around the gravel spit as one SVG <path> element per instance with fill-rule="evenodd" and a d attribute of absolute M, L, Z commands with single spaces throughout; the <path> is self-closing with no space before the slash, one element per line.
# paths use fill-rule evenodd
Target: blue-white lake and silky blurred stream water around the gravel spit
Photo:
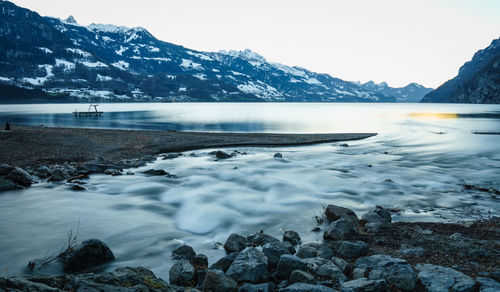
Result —
<path fill-rule="evenodd" d="M 64 246 L 70 230 L 99 238 L 115 266 L 145 266 L 168 278 L 179 242 L 209 256 L 230 233 L 293 229 L 305 240 L 328 204 L 358 215 L 398 208 L 399 221 L 451 222 L 499 216 L 500 200 L 463 183 L 500 189 L 500 106 L 449 104 L 104 104 L 102 118 L 74 118 L 82 105 L 1 105 L 0 122 L 47 126 L 281 133 L 377 132 L 377 136 L 301 147 L 230 148 L 246 155 L 215 161 L 189 151 L 133 176 L 93 175 L 86 192 L 39 183 L 0 194 L 0 270 Z M 283 159 L 273 158 L 274 153 Z M 191 155 L 192 154 L 192 155 Z M 178 179 L 149 177 L 165 169 Z M 5 270 L 8 269 L 8 270 Z"/>

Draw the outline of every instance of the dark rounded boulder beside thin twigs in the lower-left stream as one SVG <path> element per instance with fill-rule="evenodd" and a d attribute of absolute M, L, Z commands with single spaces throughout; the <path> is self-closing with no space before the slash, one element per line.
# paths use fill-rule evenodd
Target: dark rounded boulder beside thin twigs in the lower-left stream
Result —
<path fill-rule="evenodd" d="M 109 247 L 98 239 L 89 239 L 60 255 L 63 269 L 81 272 L 115 259 Z"/>

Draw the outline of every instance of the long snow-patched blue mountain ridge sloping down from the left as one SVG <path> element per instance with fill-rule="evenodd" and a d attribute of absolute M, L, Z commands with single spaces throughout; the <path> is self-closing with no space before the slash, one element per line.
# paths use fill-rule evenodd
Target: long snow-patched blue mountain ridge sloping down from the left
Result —
<path fill-rule="evenodd" d="M 328 74 L 269 62 L 250 50 L 201 52 L 158 40 L 141 27 L 81 26 L 72 16 L 66 20 L 41 17 L 8 1 L 0 1 L 0 8 L 0 84 L 42 90 L 54 101 L 394 102 L 406 98 L 397 91 L 387 94 Z M 23 96 L 11 100 L 18 102 Z"/>

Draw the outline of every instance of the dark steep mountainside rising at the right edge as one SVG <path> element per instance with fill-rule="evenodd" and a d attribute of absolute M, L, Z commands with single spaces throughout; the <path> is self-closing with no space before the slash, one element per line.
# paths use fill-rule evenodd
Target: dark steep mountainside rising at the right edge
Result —
<path fill-rule="evenodd" d="M 500 103 L 500 38 L 476 52 L 455 78 L 428 93 L 422 102 Z"/>

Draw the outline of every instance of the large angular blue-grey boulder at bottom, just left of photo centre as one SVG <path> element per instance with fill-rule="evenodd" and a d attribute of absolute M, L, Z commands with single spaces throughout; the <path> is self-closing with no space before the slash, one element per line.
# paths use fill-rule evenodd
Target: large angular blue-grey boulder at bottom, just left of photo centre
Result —
<path fill-rule="evenodd" d="M 255 283 L 266 275 L 267 262 L 260 250 L 248 247 L 238 254 L 226 274 L 238 282 Z"/>

